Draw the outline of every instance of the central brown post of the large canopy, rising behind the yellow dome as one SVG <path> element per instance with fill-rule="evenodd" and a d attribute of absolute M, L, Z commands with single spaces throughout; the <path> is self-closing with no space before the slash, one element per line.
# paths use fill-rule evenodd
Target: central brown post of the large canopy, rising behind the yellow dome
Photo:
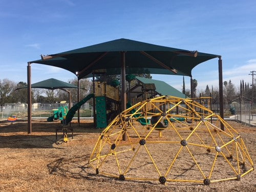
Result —
<path fill-rule="evenodd" d="M 122 51 L 121 52 L 121 86 L 122 86 L 122 90 L 121 90 L 121 99 L 122 99 L 122 111 L 126 110 L 126 82 L 125 82 L 125 52 Z M 124 127 L 124 133 L 122 136 L 123 141 L 126 141 L 127 139 L 127 134 L 126 134 L 126 127 Z"/>

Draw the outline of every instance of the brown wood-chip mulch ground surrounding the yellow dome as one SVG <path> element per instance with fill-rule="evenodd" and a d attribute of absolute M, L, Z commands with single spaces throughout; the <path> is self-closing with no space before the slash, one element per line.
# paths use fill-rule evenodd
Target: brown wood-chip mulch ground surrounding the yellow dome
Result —
<path fill-rule="evenodd" d="M 255 170 L 241 181 L 211 183 L 120 181 L 95 175 L 88 160 L 102 130 L 93 129 L 92 120 L 75 121 L 74 139 L 62 142 L 55 129 L 59 122 L 46 119 L 32 121 L 32 134 L 27 134 L 27 121 L 14 124 L 0 121 L 0 191 L 256 191 Z M 242 136 L 256 161 L 256 129 L 229 121 Z"/>

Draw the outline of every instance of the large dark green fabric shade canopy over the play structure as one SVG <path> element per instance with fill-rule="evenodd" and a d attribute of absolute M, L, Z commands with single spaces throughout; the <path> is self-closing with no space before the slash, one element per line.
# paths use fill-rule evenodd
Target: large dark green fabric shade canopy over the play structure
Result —
<path fill-rule="evenodd" d="M 172 74 L 185 75 L 192 78 L 191 70 L 194 67 L 201 62 L 217 57 L 219 58 L 219 67 L 222 67 L 220 55 L 158 46 L 121 38 L 71 51 L 47 56 L 42 55 L 41 59 L 28 62 L 28 84 L 30 85 L 31 82 L 31 63 L 66 69 L 74 73 L 78 80 L 91 77 L 94 73 L 102 70 L 106 75 L 121 74 L 122 110 L 125 110 L 126 73 Z M 220 83 L 222 85 L 222 68 L 220 69 L 221 74 L 219 77 L 221 77 Z M 29 92 L 30 87 L 28 89 Z M 222 90 L 220 90 L 220 93 L 222 93 Z M 30 115 L 28 114 L 28 116 Z M 30 120 L 28 120 L 28 124 L 31 127 Z"/>

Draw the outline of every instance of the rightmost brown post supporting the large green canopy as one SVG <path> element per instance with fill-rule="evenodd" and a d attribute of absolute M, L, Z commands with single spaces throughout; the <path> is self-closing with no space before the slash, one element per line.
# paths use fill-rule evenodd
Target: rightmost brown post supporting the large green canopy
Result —
<path fill-rule="evenodd" d="M 219 57 L 219 94 L 220 94 L 220 116 L 224 119 L 224 109 L 223 109 L 223 77 L 222 77 L 222 59 Z M 224 131 L 224 125 L 221 122 L 221 130 Z"/>

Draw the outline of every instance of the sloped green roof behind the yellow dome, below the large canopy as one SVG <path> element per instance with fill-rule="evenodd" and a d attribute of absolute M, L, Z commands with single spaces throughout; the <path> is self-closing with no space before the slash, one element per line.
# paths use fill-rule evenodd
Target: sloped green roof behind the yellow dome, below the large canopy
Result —
<path fill-rule="evenodd" d="M 186 95 L 178 91 L 177 89 L 173 88 L 169 84 L 164 81 L 155 80 L 155 79 L 148 79 L 143 77 L 136 77 L 141 83 L 154 83 L 156 86 L 156 92 L 161 95 L 168 95 L 180 98 L 186 98 Z"/>

